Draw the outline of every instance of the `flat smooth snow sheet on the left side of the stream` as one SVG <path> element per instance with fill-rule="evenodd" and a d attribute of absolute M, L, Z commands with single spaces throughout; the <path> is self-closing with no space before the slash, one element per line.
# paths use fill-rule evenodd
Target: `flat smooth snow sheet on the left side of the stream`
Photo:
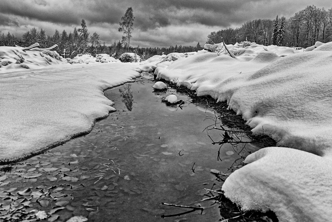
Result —
<path fill-rule="evenodd" d="M 95 119 L 114 110 L 103 90 L 138 77 L 133 66 L 66 64 L 1 74 L 0 160 L 24 157 L 91 130 Z"/>

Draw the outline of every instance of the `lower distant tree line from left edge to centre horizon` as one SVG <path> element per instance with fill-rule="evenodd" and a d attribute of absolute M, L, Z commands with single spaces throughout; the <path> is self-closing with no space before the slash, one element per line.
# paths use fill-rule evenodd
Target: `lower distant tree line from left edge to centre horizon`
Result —
<path fill-rule="evenodd" d="M 84 19 L 81 22 L 81 28 L 74 28 L 73 32 L 66 32 L 63 30 L 61 33 L 55 30 L 53 35 L 46 35 L 44 29 L 37 30 L 32 28 L 22 35 L 22 40 L 17 39 L 14 34 L 8 32 L 7 35 L 2 33 L 0 35 L 0 46 L 15 46 L 28 47 L 36 42 L 40 44 L 40 48 L 49 48 L 54 44 L 58 47 L 55 48 L 62 57 L 73 58 L 77 54 L 109 54 L 118 58 L 124 52 L 137 53 L 141 57 L 144 55 L 145 59 L 154 55 L 169 54 L 172 52 L 193 52 L 203 49 L 198 42 L 196 46 L 170 46 L 170 47 L 132 47 L 129 46 L 129 39 L 124 38 L 123 41 L 114 41 L 112 45 L 105 45 L 100 43 L 99 34 L 94 32 L 92 35 L 88 32 L 86 22 Z M 53 50 L 53 49 L 52 49 Z"/>

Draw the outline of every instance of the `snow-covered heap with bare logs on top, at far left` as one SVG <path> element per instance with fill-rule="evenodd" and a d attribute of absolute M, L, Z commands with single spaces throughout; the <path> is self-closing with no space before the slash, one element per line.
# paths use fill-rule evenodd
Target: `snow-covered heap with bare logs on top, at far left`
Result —
<path fill-rule="evenodd" d="M 67 63 L 56 51 L 40 48 L 26 51 L 23 49 L 25 48 L 0 46 L 0 73 Z"/>

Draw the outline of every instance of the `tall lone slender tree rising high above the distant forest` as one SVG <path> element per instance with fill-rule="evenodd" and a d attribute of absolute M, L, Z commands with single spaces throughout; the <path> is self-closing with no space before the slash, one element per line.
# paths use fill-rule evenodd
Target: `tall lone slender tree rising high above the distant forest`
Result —
<path fill-rule="evenodd" d="M 124 16 L 121 18 L 120 24 L 120 28 L 118 29 L 118 31 L 120 32 L 124 32 L 125 36 L 122 36 L 122 43 L 128 42 L 128 50 L 129 50 L 129 44 L 130 44 L 130 38 L 131 36 L 131 31 L 134 29 L 133 25 L 134 25 L 134 14 L 133 14 L 133 10 L 131 7 L 129 7 Z"/>

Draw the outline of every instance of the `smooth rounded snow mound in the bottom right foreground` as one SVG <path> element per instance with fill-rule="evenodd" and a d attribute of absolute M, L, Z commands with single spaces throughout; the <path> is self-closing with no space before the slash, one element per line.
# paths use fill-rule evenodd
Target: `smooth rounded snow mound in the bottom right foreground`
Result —
<path fill-rule="evenodd" d="M 285 147 L 250 154 L 222 185 L 243 210 L 272 210 L 279 221 L 330 221 L 332 161 Z"/>

